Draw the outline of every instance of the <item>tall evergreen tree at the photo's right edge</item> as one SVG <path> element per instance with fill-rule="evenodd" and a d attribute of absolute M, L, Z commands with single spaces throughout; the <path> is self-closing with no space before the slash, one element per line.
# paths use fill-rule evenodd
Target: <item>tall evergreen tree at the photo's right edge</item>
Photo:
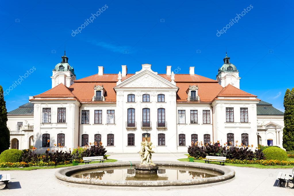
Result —
<path fill-rule="evenodd" d="M 294 88 L 286 90 L 284 107 L 283 147 L 294 150 Z"/>

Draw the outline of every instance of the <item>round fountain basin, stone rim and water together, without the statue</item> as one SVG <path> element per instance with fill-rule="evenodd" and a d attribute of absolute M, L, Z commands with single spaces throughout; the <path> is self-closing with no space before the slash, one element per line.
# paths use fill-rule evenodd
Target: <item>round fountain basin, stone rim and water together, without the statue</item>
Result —
<path fill-rule="evenodd" d="M 232 179 L 235 171 L 221 165 L 154 161 L 158 173 L 149 176 L 135 172 L 139 161 L 94 163 L 65 167 L 55 172 L 56 178 L 70 186 L 103 187 L 172 187 L 219 183 Z"/>

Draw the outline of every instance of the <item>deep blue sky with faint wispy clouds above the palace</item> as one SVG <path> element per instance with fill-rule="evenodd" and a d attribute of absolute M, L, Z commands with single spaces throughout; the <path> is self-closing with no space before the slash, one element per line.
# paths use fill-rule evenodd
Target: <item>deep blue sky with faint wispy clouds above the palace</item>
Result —
<path fill-rule="evenodd" d="M 90 18 L 99 9 L 104 11 Z M 52 69 L 66 45 L 78 79 L 98 73 L 97 66 L 118 73 L 127 65 L 134 73 L 143 63 L 158 73 L 167 65 L 178 73 L 195 66 L 196 74 L 215 79 L 227 48 L 240 71 L 240 88 L 283 111 L 285 90 L 294 87 L 293 11 L 290 0 L 4 1 L 0 85 L 9 91 L 7 110 L 51 88 Z M 87 19 L 93 20 L 79 28 Z M 81 32 L 72 36 L 76 29 Z M 13 85 L 20 76 L 27 77 Z"/>

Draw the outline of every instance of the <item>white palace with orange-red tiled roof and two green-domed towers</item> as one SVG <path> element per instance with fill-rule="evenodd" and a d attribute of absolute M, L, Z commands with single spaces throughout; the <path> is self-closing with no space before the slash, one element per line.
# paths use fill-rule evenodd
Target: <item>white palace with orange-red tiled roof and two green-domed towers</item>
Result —
<path fill-rule="evenodd" d="M 156 152 L 187 152 L 191 142 L 283 147 L 283 112 L 240 90 L 239 71 L 226 55 L 216 80 L 159 74 L 150 64 L 136 73 L 76 80 L 68 57 L 52 71 L 52 88 L 8 113 L 11 148 L 33 145 L 38 152 L 102 142 L 108 152 L 136 153 L 151 140 Z M 188 70 L 187 70 L 188 71 Z"/>

